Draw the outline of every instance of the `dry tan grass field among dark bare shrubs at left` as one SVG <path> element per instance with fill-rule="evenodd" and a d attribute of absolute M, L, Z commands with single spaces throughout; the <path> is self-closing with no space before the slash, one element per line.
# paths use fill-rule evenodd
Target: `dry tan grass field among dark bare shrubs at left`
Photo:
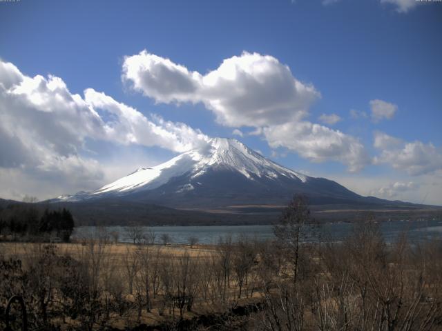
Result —
<path fill-rule="evenodd" d="M 108 314 L 106 325 L 109 328 L 121 330 L 140 324 L 173 325 L 177 319 L 190 320 L 204 314 L 221 314 L 228 307 L 259 302 L 258 292 L 242 290 L 242 297 L 238 298 L 238 286 L 233 276 L 228 280 L 229 284 L 224 290 L 215 289 L 213 284 L 202 284 L 202 273 L 209 272 L 208 268 L 215 268 L 213 263 L 219 258 L 220 252 L 220 247 L 217 245 L 193 245 L 193 247 L 189 245 L 134 245 L 99 240 L 83 243 L 0 243 L 0 257 L 3 260 L 20 260 L 23 270 L 39 269 L 41 276 L 48 272 L 52 277 L 57 278 L 57 270 L 48 270 L 57 269 L 57 266 L 51 265 L 52 263 L 36 265 L 48 258 L 69 257 L 86 264 L 88 280 L 96 282 L 92 284 L 92 287 L 97 286 L 101 292 L 99 299 L 97 298 L 98 301 L 106 307 L 107 301 L 124 301 L 126 310 L 123 314 L 111 311 L 111 309 L 105 312 Z M 48 269 L 44 270 L 44 268 Z M 165 283 L 171 281 L 173 283 L 171 286 L 177 288 L 178 292 L 175 294 L 176 289 L 174 289 L 172 291 L 175 295 L 165 293 L 169 290 L 164 290 L 160 281 Z M 189 287 L 188 290 L 184 289 L 186 286 Z M 146 288 L 148 288 L 147 292 Z M 204 288 L 204 294 L 200 292 L 202 288 Z M 210 291 L 215 290 L 222 293 L 220 295 L 224 297 L 224 301 L 227 298 L 234 300 L 228 305 L 222 303 L 215 299 L 215 294 L 209 294 Z M 55 303 L 61 298 L 57 298 L 57 290 L 54 292 L 50 301 Z M 146 299 L 147 296 L 150 297 Z M 188 299 L 180 298 L 189 296 L 194 297 L 191 299 L 193 301 L 191 310 L 187 308 Z M 165 297 L 173 302 L 165 302 Z M 82 330 L 85 327 L 79 319 L 69 317 L 57 317 L 52 319 L 51 323 L 59 325 L 61 330 L 70 330 L 73 327 Z M 98 325 L 99 321 L 93 321 L 90 330 L 94 330 Z"/>

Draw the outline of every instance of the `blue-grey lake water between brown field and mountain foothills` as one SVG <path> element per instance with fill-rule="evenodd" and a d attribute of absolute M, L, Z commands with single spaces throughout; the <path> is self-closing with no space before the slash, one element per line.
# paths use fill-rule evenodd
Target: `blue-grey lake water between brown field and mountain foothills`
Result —
<path fill-rule="evenodd" d="M 435 236 L 442 237 L 442 220 L 431 219 L 424 221 L 390 221 L 380 223 L 381 232 L 385 241 L 394 241 L 403 231 L 407 232 L 410 241 L 430 239 Z M 343 239 L 351 232 L 352 223 L 331 223 L 323 224 L 320 227 L 321 237 L 325 240 Z M 109 234 L 118 232 L 120 242 L 130 242 L 126 227 L 108 226 L 104 230 Z M 144 232 L 155 232 L 155 241 L 160 242 L 162 234 L 169 234 L 173 243 L 188 243 L 189 237 L 197 237 L 200 243 L 217 243 L 220 237 L 231 236 L 233 240 L 241 235 L 260 240 L 272 239 L 272 225 L 226 225 L 226 226 L 151 226 L 142 227 Z M 73 238 L 93 238 L 98 229 L 93 226 L 75 228 Z"/>

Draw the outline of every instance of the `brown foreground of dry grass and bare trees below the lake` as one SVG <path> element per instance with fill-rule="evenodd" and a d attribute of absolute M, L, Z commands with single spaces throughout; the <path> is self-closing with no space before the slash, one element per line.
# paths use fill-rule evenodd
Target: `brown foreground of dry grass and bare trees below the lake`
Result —
<path fill-rule="evenodd" d="M 0 329 L 20 294 L 32 330 L 442 330 L 442 243 L 386 245 L 377 226 L 322 245 L 284 226 L 193 247 L 0 242 Z"/>

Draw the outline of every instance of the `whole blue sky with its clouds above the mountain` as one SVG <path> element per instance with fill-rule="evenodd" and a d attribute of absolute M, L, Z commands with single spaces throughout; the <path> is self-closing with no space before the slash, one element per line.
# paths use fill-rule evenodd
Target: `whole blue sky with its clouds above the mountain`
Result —
<path fill-rule="evenodd" d="M 0 70 L 0 196 L 92 190 L 166 161 L 202 134 L 236 137 L 360 194 L 442 204 L 440 31 L 442 3 L 412 0 L 1 2 L 0 60 L 14 68 Z M 244 95 L 220 83 L 223 61 L 239 70 L 229 82 Z M 146 80 L 152 72 L 164 76 Z M 164 82 L 177 72 L 183 84 L 171 90 Z M 209 74 L 218 81 L 204 82 Z M 41 90 L 23 83 L 37 75 L 46 85 L 59 77 L 81 100 L 37 116 Z M 274 90 L 265 95 L 255 83 Z M 301 90 L 290 90 L 296 83 Z M 57 94 L 44 93 L 48 102 Z M 260 97 L 267 108 L 243 117 Z M 149 123 L 159 136 L 143 133 Z M 52 130 L 57 124 L 66 130 Z"/>

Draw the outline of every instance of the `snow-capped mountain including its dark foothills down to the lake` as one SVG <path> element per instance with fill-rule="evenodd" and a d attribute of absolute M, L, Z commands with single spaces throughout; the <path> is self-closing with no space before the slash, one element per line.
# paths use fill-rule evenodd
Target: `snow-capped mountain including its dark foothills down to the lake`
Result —
<path fill-rule="evenodd" d="M 98 190 L 48 202 L 69 208 L 79 225 L 243 225 L 272 223 L 294 194 L 305 195 L 314 218 L 323 221 L 353 221 L 367 211 L 378 219 L 428 217 L 434 209 L 363 197 L 224 138 L 210 139 L 155 167 L 139 168 Z"/>

